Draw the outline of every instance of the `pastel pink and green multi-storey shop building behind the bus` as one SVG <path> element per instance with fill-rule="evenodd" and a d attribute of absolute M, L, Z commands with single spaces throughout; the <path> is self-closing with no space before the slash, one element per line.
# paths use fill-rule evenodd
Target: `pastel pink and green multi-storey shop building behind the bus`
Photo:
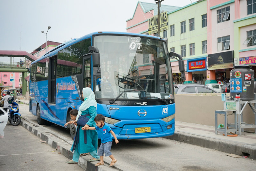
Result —
<path fill-rule="evenodd" d="M 126 20 L 127 32 L 148 34 L 148 19 L 157 11 L 156 4 L 149 6 L 138 2 Z M 169 52 L 183 57 L 184 83 L 228 82 L 230 71 L 242 64 L 256 71 L 256 0 L 199 0 L 167 14 L 168 29 L 160 36 Z M 174 82 L 180 83 L 178 62 L 171 62 Z"/>

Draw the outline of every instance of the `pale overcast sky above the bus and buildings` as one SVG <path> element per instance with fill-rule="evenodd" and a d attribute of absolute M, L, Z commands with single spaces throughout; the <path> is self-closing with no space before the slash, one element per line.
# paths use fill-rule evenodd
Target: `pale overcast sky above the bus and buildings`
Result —
<path fill-rule="evenodd" d="M 48 26 L 51 29 L 47 40 L 60 43 L 95 31 L 126 32 L 126 20 L 132 18 L 137 3 L 138 0 L 0 0 L 0 50 L 32 52 L 45 43 L 41 31 L 46 33 Z M 162 4 L 182 7 L 191 2 L 164 0 Z"/>

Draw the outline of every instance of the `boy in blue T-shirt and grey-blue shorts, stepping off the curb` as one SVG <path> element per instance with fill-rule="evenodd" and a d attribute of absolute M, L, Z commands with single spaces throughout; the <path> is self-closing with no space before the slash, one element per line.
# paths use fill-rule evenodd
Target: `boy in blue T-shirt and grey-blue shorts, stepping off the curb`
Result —
<path fill-rule="evenodd" d="M 114 166 L 114 164 L 116 164 L 117 159 L 115 159 L 112 153 L 110 152 L 111 145 L 112 145 L 111 134 L 114 136 L 115 142 L 117 144 L 119 142 L 116 138 L 116 135 L 111 130 L 111 128 L 105 124 L 105 117 L 102 114 L 98 114 L 97 116 L 95 116 L 94 121 L 96 122 L 96 127 L 89 127 L 88 129 L 98 130 L 100 132 L 100 139 L 101 139 L 100 148 L 98 150 L 98 155 L 100 156 L 100 162 L 97 163 L 95 166 L 104 165 L 104 161 L 103 161 L 104 153 L 106 157 L 109 156 L 112 159 L 109 166 Z M 82 128 L 82 130 L 85 130 L 85 129 L 86 129 L 85 127 Z"/>

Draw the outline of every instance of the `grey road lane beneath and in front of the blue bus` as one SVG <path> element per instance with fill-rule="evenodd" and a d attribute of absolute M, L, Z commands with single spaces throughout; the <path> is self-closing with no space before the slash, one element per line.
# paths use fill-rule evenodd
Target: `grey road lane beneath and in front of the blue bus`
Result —
<path fill-rule="evenodd" d="M 36 121 L 36 116 L 27 113 L 28 105 L 20 104 L 20 113 Z M 69 131 L 60 126 L 46 126 L 53 131 L 69 136 Z M 113 142 L 112 154 L 118 160 L 116 167 L 124 171 L 255 171 L 256 161 L 249 158 L 232 158 L 224 152 L 181 143 L 165 138 L 120 140 Z M 104 157 L 110 163 L 109 157 Z"/>

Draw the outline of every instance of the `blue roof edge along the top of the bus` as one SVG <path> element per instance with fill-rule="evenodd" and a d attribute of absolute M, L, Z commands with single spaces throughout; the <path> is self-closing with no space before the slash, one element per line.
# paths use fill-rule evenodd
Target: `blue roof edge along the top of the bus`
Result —
<path fill-rule="evenodd" d="M 56 46 L 54 49 L 52 49 L 51 51 L 47 52 L 44 54 L 44 56 L 42 56 L 41 58 L 35 60 L 34 62 L 31 63 L 34 64 L 44 58 L 47 58 L 47 57 L 52 57 L 54 55 L 56 55 L 58 53 L 58 51 L 62 50 L 62 49 L 65 49 L 66 47 L 72 45 L 72 44 L 75 44 L 77 42 L 80 42 L 84 39 L 87 39 L 89 37 L 92 37 L 93 35 L 101 35 L 101 34 L 112 34 L 112 35 L 137 35 L 137 36 L 144 36 L 144 37 L 148 37 L 148 38 L 154 38 L 154 39 L 159 39 L 159 40 L 163 40 L 163 38 L 160 38 L 160 37 L 156 37 L 156 36 L 152 36 L 152 35 L 145 35 L 145 34 L 138 34 L 138 33 L 127 33 L 127 32 L 93 32 L 93 33 L 90 33 L 88 35 L 84 35 L 78 39 L 71 39 L 69 40 L 68 42 L 65 42 L 65 43 L 62 43 L 60 44 L 59 46 Z M 59 50 L 58 50 L 59 49 Z M 58 51 L 57 51 L 58 50 Z"/>

